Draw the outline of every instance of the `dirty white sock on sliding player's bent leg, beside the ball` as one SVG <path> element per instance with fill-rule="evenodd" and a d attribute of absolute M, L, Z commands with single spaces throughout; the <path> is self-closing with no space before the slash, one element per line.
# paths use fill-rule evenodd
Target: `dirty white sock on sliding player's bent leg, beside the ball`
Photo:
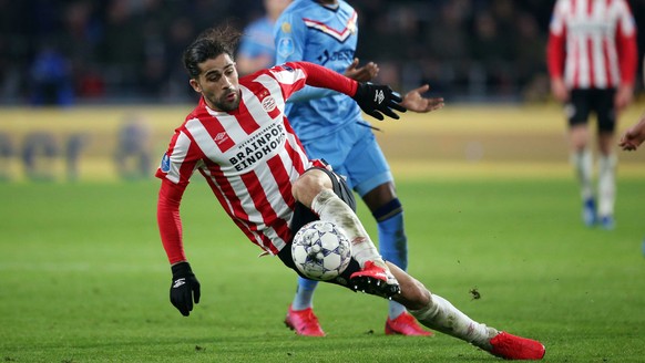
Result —
<path fill-rule="evenodd" d="M 311 209 L 320 216 L 320 220 L 330 221 L 345 230 L 351 241 L 351 256 L 361 268 L 366 261 L 382 260 L 354 210 L 334 190 L 325 189 L 314 197 Z"/>

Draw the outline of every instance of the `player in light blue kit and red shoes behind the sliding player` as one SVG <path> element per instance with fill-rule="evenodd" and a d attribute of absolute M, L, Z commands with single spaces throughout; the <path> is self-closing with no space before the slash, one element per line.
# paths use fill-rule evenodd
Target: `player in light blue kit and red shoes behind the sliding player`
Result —
<path fill-rule="evenodd" d="M 342 0 L 296 0 L 278 18 L 275 29 L 276 64 L 307 61 L 367 82 L 377 75 L 378 65 L 358 66 L 358 14 Z M 424 98 L 423 85 L 406 94 L 401 103 L 416 112 L 443 106 L 443 98 Z M 362 120 L 360 107 L 350 97 L 330 90 L 306 86 L 287 104 L 286 114 L 309 157 L 325 159 L 362 198 L 378 225 L 382 257 L 406 270 L 408 242 L 403 209 L 390 167 L 372 127 Z M 285 323 L 300 335 L 322 336 L 313 311 L 317 281 L 298 279 L 296 295 Z M 389 302 L 386 334 L 432 335 L 423 330 L 403 305 Z"/>

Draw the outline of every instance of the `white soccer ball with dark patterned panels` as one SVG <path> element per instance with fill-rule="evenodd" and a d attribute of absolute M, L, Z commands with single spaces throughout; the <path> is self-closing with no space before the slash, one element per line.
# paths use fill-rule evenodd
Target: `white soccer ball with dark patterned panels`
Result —
<path fill-rule="evenodd" d="M 329 221 L 315 220 L 296 232 L 291 243 L 296 268 L 311 280 L 337 278 L 351 260 L 351 243 L 345 231 Z"/>

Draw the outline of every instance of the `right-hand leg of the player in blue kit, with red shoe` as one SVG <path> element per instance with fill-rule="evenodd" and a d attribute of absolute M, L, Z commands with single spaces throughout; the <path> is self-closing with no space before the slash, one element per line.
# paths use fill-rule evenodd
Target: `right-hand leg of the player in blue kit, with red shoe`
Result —
<path fill-rule="evenodd" d="M 376 219 L 379 252 L 386 261 L 407 270 L 408 238 L 403 207 L 397 197 L 390 167 L 371 129 L 357 124 L 350 131 L 352 147 L 342 167 Z M 393 300 L 388 305 L 386 334 L 432 335 L 419 326 L 403 305 Z"/>

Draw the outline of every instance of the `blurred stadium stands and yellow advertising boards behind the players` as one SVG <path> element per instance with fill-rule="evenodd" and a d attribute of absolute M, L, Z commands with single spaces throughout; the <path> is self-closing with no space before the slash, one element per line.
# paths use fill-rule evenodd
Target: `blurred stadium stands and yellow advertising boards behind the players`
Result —
<path fill-rule="evenodd" d="M 395 168 L 436 177 L 485 173 L 491 164 L 511 174 L 542 175 L 538 166 L 569 173 L 544 62 L 554 1 L 351 3 L 360 14 L 357 56 L 379 63 L 378 81 L 399 90 L 427 82 L 447 101 L 434 114 L 379 124 Z M 629 3 L 643 59 L 645 1 Z M 183 49 L 213 24 L 243 29 L 262 14 L 260 0 L 0 1 L 0 177 L 150 177 L 196 100 Z M 639 62 L 636 102 L 621 129 L 645 110 L 642 73 Z M 119 139 L 127 125 L 146 159 L 134 155 L 123 166 L 116 160 L 130 152 L 116 151 L 136 153 Z M 622 173 L 641 154 L 622 153 Z M 150 172 L 136 170 L 140 162 Z"/>

